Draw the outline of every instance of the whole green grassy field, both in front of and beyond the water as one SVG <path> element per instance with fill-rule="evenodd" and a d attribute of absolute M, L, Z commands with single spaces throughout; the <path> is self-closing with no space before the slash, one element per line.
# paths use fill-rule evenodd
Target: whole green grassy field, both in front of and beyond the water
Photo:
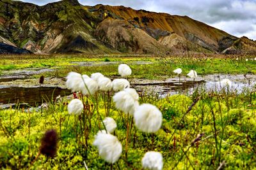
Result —
<path fill-rule="evenodd" d="M 34 67 L 38 62 L 43 67 L 59 67 L 58 73 L 45 76 L 66 76 L 69 71 L 88 74 L 100 72 L 106 76 L 117 76 L 118 64 L 110 66 L 77 67 L 70 61 L 151 61 L 153 64 L 130 65 L 132 78 L 159 79 L 174 76 L 173 69 L 181 67 L 184 73 L 195 69 L 198 74 L 253 73 L 254 57 L 225 57 L 196 59 L 186 57 L 129 57 L 99 56 L 70 58 L 65 55 L 5 57 L 0 61 L 11 69 Z M 38 56 L 37 56 L 38 57 Z M 40 57 L 40 56 L 39 56 Z M 47 58 L 49 57 L 49 58 Z M 23 61 L 21 63 L 21 61 Z M 52 64 L 47 65 L 48 64 Z M 28 65 L 26 65 L 28 64 Z M 40 64 L 42 65 L 42 64 Z M 36 66 L 35 66 L 36 67 Z M 41 66 L 40 66 L 41 67 Z M 10 67 L 9 67 L 10 68 Z M 10 69 L 9 69 L 10 70 Z M 113 95 L 113 92 L 112 92 Z M 106 97 L 106 96 L 105 96 Z M 139 131 L 131 125 L 128 117 L 111 103 L 109 117 L 115 119 L 115 136 L 122 143 L 122 155 L 111 165 L 100 159 L 98 150 L 92 145 L 94 136 L 103 130 L 102 119 L 106 117 L 106 99 L 101 92 L 95 96 L 81 98 L 84 111 L 81 116 L 69 115 L 68 99 L 65 97 L 50 102 L 47 109 L 27 111 L 24 108 L 0 110 L 0 167 L 1 169 L 142 169 L 141 159 L 148 151 L 161 152 L 163 169 L 253 169 L 256 167 L 256 93 L 195 92 L 189 96 L 175 95 L 163 99 L 156 94 L 140 96 L 140 104 L 150 103 L 163 114 L 161 129 L 154 134 Z M 129 126 L 127 126 L 129 124 Z M 40 154 L 40 139 L 48 129 L 58 132 L 59 142 L 53 159 Z"/>

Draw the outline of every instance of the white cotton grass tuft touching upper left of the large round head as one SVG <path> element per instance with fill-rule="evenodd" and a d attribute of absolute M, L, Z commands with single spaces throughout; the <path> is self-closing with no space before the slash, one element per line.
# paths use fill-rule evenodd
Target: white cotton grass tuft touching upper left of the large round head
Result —
<path fill-rule="evenodd" d="M 136 108 L 138 108 L 139 103 L 134 99 L 134 96 L 129 94 L 129 92 L 120 91 L 113 96 L 113 102 L 118 110 L 124 111 L 126 114 L 134 114 Z"/>

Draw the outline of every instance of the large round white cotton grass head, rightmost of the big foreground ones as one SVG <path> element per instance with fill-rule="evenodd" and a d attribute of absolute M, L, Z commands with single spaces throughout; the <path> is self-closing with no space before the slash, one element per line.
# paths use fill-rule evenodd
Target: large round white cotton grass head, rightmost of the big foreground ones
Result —
<path fill-rule="evenodd" d="M 135 125 L 142 132 L 157 132 L 162 124 L 162 113 L 152 104 L 141 104 L 134 113 Z"/>

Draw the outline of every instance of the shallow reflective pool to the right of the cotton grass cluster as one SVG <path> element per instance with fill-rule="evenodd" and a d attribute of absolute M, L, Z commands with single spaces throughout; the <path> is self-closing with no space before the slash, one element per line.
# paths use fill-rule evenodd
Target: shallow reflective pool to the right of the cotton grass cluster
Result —
<path fill-rule="evenodd" d="M 232 81 L 230 87 L 223 87 L 220 81 L 229 79 Z M 256 87 L 256 75 L 253 74 L 209 74 L 199 76 L 193 80 L 192 78 L 181 77 L 168 78 L 164 81 L 140 80 L 134 83 L 133 87 L 140 92 L 152 94 L 157 92 L 160 97 L 173 94 L 192 94 L 195 89 L 205 90 L 206 92 L 220 92 L 228 90 L 230 92 L 241 93 L 244 90 L 253 90 Z"/>

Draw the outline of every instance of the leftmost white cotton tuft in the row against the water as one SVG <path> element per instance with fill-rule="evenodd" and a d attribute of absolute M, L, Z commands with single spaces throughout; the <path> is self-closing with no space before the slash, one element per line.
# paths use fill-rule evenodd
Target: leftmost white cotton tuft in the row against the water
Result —
<path fill-rule="evenodd" d="M 67 89 L 72 90 L 72 92 L 79 91 L 79 83 L 81 82 L 81 78 L 82 76 L 79 73 L 73 71 L 68 73 L 66 81 Z"/>

